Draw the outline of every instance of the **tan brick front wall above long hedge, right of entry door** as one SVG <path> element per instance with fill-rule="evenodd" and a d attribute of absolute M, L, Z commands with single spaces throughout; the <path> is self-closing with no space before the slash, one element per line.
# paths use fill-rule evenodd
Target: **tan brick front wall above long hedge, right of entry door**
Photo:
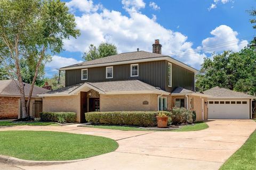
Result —
<path fill-rule="evenodd" d="M 100 95 L 100 111 L 157 111 L 156 94 Z M 148 101 L 148 105 L 143 105 Z"/>

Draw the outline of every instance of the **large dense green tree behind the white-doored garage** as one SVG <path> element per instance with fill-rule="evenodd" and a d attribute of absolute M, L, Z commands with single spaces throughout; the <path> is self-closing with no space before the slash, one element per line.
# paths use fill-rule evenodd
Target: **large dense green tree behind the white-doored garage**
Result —
<path fill-rule="evenodd" d="M 254 48 L 240 52 L 223 52 L 204 58 L 197 74 L 196 90 L 204 91 L 215 86 L 254 95 L 256 92 L 256 53 Z"/>

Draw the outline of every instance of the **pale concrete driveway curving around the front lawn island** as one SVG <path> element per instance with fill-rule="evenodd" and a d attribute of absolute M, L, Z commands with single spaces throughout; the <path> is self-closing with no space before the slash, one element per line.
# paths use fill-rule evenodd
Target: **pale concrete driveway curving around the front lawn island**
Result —
<path fill-rule="evenodd" d="M 252 120 L 214 120 L 194 132 L 118 131 L 69 126 L 15 126 L 5 130 L 41 130 L 108 137 L 119 148 L 81 162 L 22 169 L 219 169 L 256 129 Z M 0 167 L 4 165 L 0 165 Z M 18 167 L 17 167 L 18 168 Z M 1 168 L 0 168 L 1 169 Z"/>

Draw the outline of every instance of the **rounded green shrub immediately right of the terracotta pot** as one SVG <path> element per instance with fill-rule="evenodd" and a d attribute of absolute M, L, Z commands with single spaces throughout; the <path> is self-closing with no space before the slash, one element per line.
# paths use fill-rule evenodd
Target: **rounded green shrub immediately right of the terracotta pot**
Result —
<path fill-rule="evenodd" d="M 193 114 L 192 111 L 189 111 L 184 107 L 173 107 L 171 111 L 171 118 L 173 124 L 192 123 Z"/>

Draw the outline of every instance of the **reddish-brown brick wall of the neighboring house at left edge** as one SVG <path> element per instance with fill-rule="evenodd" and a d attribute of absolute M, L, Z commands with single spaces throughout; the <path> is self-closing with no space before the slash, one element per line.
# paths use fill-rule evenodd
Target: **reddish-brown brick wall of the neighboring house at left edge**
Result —
<path fill-rule="evenodd" d="M 19 97 L 0 97 L 0 119 L 18 118 Z"/>

